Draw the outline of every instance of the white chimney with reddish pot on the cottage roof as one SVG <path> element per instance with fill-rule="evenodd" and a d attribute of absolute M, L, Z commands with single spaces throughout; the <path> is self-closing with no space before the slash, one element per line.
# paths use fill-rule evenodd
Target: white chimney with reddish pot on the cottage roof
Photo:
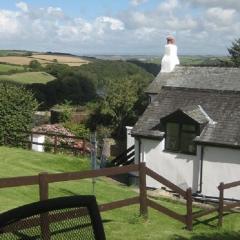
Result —
<path fill-rule="evenodd" d="M 172 36 L 168 36 L 167 44 L 165 45 L 165 54 L 162 58 L 161 73 L 172 72 L 175 66 L 179 64 L 175 39 Z"/>

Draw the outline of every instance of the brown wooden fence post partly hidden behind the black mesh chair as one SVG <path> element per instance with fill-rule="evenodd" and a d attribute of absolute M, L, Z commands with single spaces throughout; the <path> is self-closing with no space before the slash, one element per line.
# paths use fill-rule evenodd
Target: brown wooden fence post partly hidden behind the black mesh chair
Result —
<path fill-rule="evenodd" d="M 46 179 L 48 173 L 40 173 L 39 177 L 39 197 L 40 201 L 48 199 L 48 181 Z M 50 240 L 50 228 L 49 228 L 49 218 L 48 213 L 40 215 L 40 226 L 43 240 Z"/>

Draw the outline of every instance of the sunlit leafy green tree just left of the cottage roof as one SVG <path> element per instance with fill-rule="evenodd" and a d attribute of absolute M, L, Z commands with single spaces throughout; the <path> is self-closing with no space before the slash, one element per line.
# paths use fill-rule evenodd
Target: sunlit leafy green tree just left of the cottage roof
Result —
<path fill-rule="evenodd" d="M 114 137 L 123 137 L 125 126 L 135 123 L 139 109 L 142 108 L 142 104 L 147 103 L 144 101 L 145 87 L 146 82 L 137 75 L 109 82 L 105 95 L 98 101 L 90 117 L 89 127 L 96 129 L 98 125 L 107 126 L 113 130 Z M 144 104 L 143 108 L 145 107 Z"/>

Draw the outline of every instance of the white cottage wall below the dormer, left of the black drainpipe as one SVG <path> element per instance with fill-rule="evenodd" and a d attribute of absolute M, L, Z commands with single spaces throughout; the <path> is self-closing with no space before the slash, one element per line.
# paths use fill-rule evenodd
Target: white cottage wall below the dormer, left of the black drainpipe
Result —
<path fill-rule="evenodd" d="M 141 139 L 142 160 L 147 167 L 167 178 L 180 188 L 186 190 L 192 187 L 198 190 L 200 147 L 197 156 L 164 151 L 165 142 L 162 140 Z M 159 188 L 161 184 L 147 177 L 147 186 Z"/>

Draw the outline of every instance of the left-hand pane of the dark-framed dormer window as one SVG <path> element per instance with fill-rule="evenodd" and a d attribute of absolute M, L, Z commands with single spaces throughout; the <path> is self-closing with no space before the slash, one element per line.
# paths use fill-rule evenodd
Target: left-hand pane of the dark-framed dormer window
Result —
<path fill-rule="evenodd" d="M 179 150 L 179 124 L 167 123 L 166 149 L 172 151 Z"/>

